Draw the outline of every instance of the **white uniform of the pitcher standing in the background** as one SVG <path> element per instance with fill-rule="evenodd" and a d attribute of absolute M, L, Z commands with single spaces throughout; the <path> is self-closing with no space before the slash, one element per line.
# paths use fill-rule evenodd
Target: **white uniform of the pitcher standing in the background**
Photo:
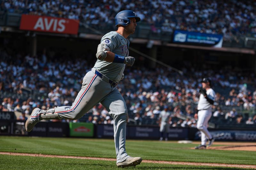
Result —
<path fill-rule="evenodd" d="M 215 100 L 215 92 L 212 88 L 206 91 L 208 98 L 211 100 Z M 212 138 L 212 135 L 209 133 L 207 129 L 208 121 L 212 116 L 212 105 L 205 99 L 203 94 L 200 94 L 198 105 L 198 121 L 197 121 L 197 129 L 201 132 L 201 144 L 206 145 L 206 137 L 208 139 Z"/>

